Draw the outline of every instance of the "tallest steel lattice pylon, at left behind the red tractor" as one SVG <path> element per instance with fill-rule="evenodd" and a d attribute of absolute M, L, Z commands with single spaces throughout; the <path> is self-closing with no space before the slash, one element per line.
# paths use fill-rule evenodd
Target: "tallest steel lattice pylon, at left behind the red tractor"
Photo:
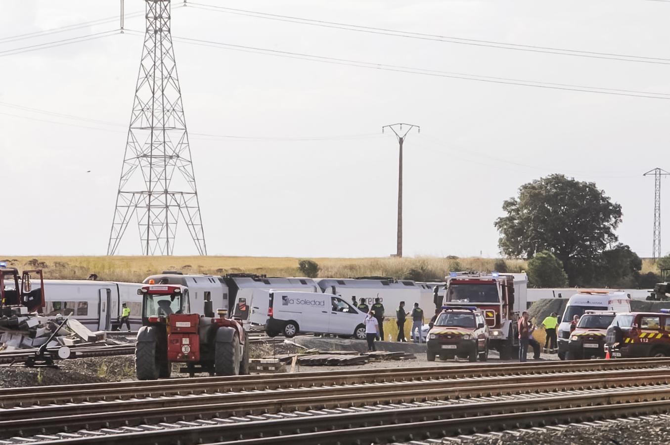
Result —
<path fill-rule="evenodd" d="M 206 255 L 200 204 L 170 34 L 170 0 L 145 0 L 147 31 L 107 255 L 133 214 L 143 255 L 172 255 L 180 215 Z"/>

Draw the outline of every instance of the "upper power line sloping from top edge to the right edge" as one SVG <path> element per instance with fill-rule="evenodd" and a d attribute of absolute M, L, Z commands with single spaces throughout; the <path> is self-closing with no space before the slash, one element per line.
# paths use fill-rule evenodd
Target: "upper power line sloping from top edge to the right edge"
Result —
<path fill-rule="evenodd" d="M 524 45 L 524 44 L 511 44 L 507 42 L 496 42 L 494 40 L 477 40 L 477 39 L 467 39 L 459 38 L 453 36 L 440 36 L 439 34 L 424 34 L 413 31 L 402 31 L 398 29 L 389 29 L 382 27 L 373 27 L 373 26 L 363 26 L 363 25 L 353 25 L 351 23 L 340 23 L 336 21 L 326 21 L 326 20 L 316 20 L 316 19 L 306 19 L 304 17 L 295 17 L 291 15 L 280 15 L 272 13 L 264 13 L 259 11 L 251 11 L 248 9 L 236 9 L 229 7 L 222 7 L 216 5 L 207 5 L 204 3 L 189 3 L 196 7 L 197 9 L 204 9 L 208 11 L 217 11 L 221 13 L 229 13 L 235 15 L 244 15 L 247 17 L 255 17 L 260 19 L 269 19 L 275 21 L 285 21 L 289 23 L 299 23 L 302 25 L 312 25 L 320 27 L 328 27 L 334 29 L 344 29 L 346 31 L 356 31 L 363 32 L 367 34 L 380 34 L 383 36 L 395 36 L 401 38 L 411 38 L 418 40 L 430 40 L 433 42 L 445 42 L 452 44 L 462 44 L 470 46 L 483 46 L 487 48 L 498 48 L 501 50 L 517 50 L 517 51 L 526 51 L 526 52 L 538 52 L 545 54 L 559 54 L 562 56 L 576 56 L 576 57 L 586 57 L 586 58 L 597 58 L 597 59 L 607 59 L 607 60 L 621 60 L 624 62 L 638 62 L 638 63 L 651 63 L 651 64 L 670 64 L 670 59 L 668 58 L 658 58 L 658 57 L 646 57 L 646 56 L 634 56 L 630 54 L 617 54 L 617 53 L 608 53 L 608 52 L 596 52 L 596 51 L 584 51 L 584 50 L 569 50 L 565 48 L 553 48 L 550 46 L 535 46 L 535 45 Z"/>

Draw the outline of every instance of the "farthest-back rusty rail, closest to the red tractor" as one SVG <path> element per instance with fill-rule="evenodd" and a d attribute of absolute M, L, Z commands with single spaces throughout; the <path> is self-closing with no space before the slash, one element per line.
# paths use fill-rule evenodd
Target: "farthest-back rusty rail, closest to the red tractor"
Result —
<path fill-rule="evenodd" d="M 557 365 L 560 366 L 557 366 Z M 464 377 L 496 377 L 500 375 L 529 375 L 539 373 L 569 373 L 576 371 L 606 371 L 608 369 L 650 369 L 670 365 L 669 359 L 628 359 L 612 361 L 540 362 L 526 366 L 516 363 L 484 367 L 412 367 L 404 369 L 366 369 L 357 371 L 322 371 L 292 375 L 246 375 L 237 377 L 196 377 L 159 381 L 87 383 L 23 387 L 0 390 L 0 407 L 48 403 L 77 403 L 119 399 L 119 397 L 155 397 L 199 394 L 211 391 L 250 391 L 310 387 L 318 385 L 351 385 L 356 383 L 385 383 L 387 381 L 427 380 Z"/>

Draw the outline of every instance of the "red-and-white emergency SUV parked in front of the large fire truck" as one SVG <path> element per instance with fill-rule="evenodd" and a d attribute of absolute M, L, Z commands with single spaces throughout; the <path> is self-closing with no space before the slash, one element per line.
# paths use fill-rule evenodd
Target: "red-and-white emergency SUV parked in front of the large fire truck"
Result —
<path fill-rule="evenodd" d="M 428 332 L 426 358 L 435 361 L 460 357 L 469 361 L 488 359 L 488 326 L 474 306 L 443 306 Z"/>

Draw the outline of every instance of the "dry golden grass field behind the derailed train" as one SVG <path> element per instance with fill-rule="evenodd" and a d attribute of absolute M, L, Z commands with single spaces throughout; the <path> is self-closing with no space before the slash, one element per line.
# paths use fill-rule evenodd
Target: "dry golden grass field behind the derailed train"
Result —
<path fill-rule="evenodd" d="M 291 257 L 4 257 L 8 265 L 23 269 L 44 269 L 46 278 L 84 279 L 96 273 L 100 279 L 141 281 L 164 270 L 184 273 L 265 273 L 269 276 L 301 275 L 298 262 Z M 405 277 L 411 270 L 427 279 L 443 279 L 449 270 L 492 271 L 496 259 L 436 257 L 415 258 L 310 258 L 320 265 L 320 277 L 359 277 L 382 275 Z M 499 260 L 498 260 L 499 261 Z M 525 261 L 505 260 L 509 271 L 522 271 Z"/>

